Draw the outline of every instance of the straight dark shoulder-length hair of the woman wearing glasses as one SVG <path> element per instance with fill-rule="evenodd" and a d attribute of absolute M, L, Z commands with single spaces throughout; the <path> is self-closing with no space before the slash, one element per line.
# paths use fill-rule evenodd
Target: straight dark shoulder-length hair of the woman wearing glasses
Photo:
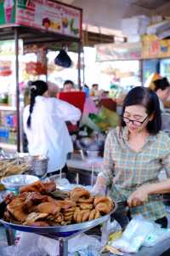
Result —
<path fill-rule="evenodd" d="M 156 134 L 161 130 L 161 110 L 158 96 L 153 90 L 142 86 L 134 87 L 127 93 L 122 106 L 121 127 L 126 126 L 123 121 L 125 108 L 128 106 L 140 105 L 146 108 L 146 113 L 153 119 L 149 121 L 146 129 L 150 134 Z"/>

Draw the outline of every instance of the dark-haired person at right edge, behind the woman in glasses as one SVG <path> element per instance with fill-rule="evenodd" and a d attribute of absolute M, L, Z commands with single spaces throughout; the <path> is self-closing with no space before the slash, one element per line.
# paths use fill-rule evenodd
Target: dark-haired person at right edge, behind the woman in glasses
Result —
<path fill-rule="evenodd" d="M 170 84 L 167 78 L 157 79 L 154 82 L 154 91 L 159 98 L 161 113 L 165 112 L 163 102 L 166 102 L 170 96 Z"/>

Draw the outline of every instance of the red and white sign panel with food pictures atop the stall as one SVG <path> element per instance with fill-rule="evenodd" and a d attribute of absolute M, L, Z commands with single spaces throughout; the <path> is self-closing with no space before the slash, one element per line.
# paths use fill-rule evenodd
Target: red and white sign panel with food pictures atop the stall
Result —
<path fill-rule="evenodd" d="M 81 38 L 82 10 L 49 0 L 18 0 L 15 23 Z"/>

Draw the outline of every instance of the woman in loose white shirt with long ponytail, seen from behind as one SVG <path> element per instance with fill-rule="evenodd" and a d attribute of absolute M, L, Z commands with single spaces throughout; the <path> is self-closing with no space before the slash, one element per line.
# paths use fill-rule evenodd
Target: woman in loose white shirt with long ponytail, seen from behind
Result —
<path fill-rule="evenodd" d="M 31 82 L 31 103 L 24 110 L 24 130 L 31 155 L 48 154 L 48 173 L 65 166 L 73 146 L 65 121 L 75 124 L 81 111 L 73 105 L 48 97 L 48 84 Z"/>

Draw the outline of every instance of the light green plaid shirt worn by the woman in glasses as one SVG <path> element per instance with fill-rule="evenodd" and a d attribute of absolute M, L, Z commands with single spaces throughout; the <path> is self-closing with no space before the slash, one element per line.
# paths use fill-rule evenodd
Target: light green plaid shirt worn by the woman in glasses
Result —
<path fill-rule="evenodd" d="M 105 177 L 115 201 L 127 201 L 131 193 L 146 183 L 157 183 L 164 168 L 170 177 L 170 137 L 163 131 L 147 137 L 144 147 L 135 152 L 128 146 L 127 127 L 109 132 L 105 141 L 104 165 L 99 176 Z M 143 214 L 156 220 L 166 215 L 162 195 L 150 195 L 149 201 L 132 207 L 131 214 Z"/>

